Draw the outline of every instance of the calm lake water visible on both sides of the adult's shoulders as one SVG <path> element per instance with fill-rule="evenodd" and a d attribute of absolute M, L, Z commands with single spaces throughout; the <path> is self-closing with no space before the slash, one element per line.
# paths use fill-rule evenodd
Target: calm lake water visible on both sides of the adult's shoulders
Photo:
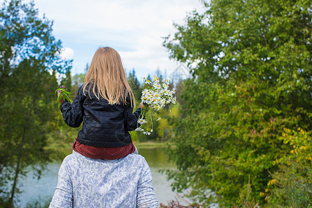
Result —
<path fill-rule="evenodd" d="M 139 154 L 144 156 L 150 166 L 153 175 L 153 187 L 157 200 L 164 204 L 177 198 L 177 194 L 171 191 L 170 184 L 172 181 L 166 180 L 165 173 L 159 173 L 164 168 L 175 168 L 168 162 L 166 151 L 163 148 L 139 148 Z M 33 207 L 35 202 L 50 201 L 58 182 L 58 169 L 60 163 L 48 164 L 46 170 L 43 171 L 40 180 L 29 172 L 25 178 L 20 178 L 22 184 L 21 191 L 17 203 L 18 207 Z"/>

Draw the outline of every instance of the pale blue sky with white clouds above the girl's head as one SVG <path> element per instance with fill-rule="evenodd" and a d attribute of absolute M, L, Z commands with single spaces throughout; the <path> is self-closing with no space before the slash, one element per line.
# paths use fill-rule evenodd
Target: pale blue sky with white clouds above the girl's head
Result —
<path fill-rule="evenodd" d="M 73 59 L 71 74 L 85 73 L 95 51 L 110 46 L 121 55 L 126 73 L 137 78 L 169 76 L 180 63 L 162 46 L 175 24 L 189 12 L 204 11 L 200 0 L 34 0 L 39 15 L 53 20 L 53 35 L 62 41 L 62 58 Z"/>

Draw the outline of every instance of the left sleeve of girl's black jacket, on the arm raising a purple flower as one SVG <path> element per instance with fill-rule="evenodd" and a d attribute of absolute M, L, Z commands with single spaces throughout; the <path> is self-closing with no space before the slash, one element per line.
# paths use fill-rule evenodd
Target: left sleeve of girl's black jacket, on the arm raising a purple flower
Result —
<path fill-rule="evenodd" d="M 83 94 L 83 87 L 81 86 L 78 89 L 78 94 L 73 100 L 73 103 L 64 101 L 60 105 L 63 119 L 70 127 L 77 128 L 83 122 L 83 102 L 85 98 L 86 96 Z"/>

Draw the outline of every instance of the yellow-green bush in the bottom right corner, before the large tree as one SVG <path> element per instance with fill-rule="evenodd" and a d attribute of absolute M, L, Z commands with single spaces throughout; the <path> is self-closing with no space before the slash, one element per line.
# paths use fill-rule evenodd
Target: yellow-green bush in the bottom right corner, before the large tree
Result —
<path fill-rule="evenodd" d="M 266 200 L 279 207 L 311 207 L 311 131 L 284 128 L 280 138 L 291 146 L 291 155 L 279 159 L 279 171 L 272 173 Z"/>

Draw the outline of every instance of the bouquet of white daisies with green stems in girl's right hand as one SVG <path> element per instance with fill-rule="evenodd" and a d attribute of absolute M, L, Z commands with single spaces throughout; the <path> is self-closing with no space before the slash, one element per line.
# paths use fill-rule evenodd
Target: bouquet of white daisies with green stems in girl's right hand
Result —
<path fill-rule="evenodd" d="M 153 132 L 153 118 L 151 114 L 157 114 L 165 105 L 175 104 L 176 98 L 173 96 L 175 89 L 169 89 L 169 81 L 164 80 L 162 83 L 157 76 L 154 76 L 153 81 L 144 78 L 144 83 L 147 86 L 146 89 L 143 89 L 141 96 L 144 109 L 141 110 L 140 119 L 137 121 L 140 127 L 136 131 L 143 132 L 144 135 L 150 135 Z M 160 117 L 156 121 L 159 120 Z"/>

